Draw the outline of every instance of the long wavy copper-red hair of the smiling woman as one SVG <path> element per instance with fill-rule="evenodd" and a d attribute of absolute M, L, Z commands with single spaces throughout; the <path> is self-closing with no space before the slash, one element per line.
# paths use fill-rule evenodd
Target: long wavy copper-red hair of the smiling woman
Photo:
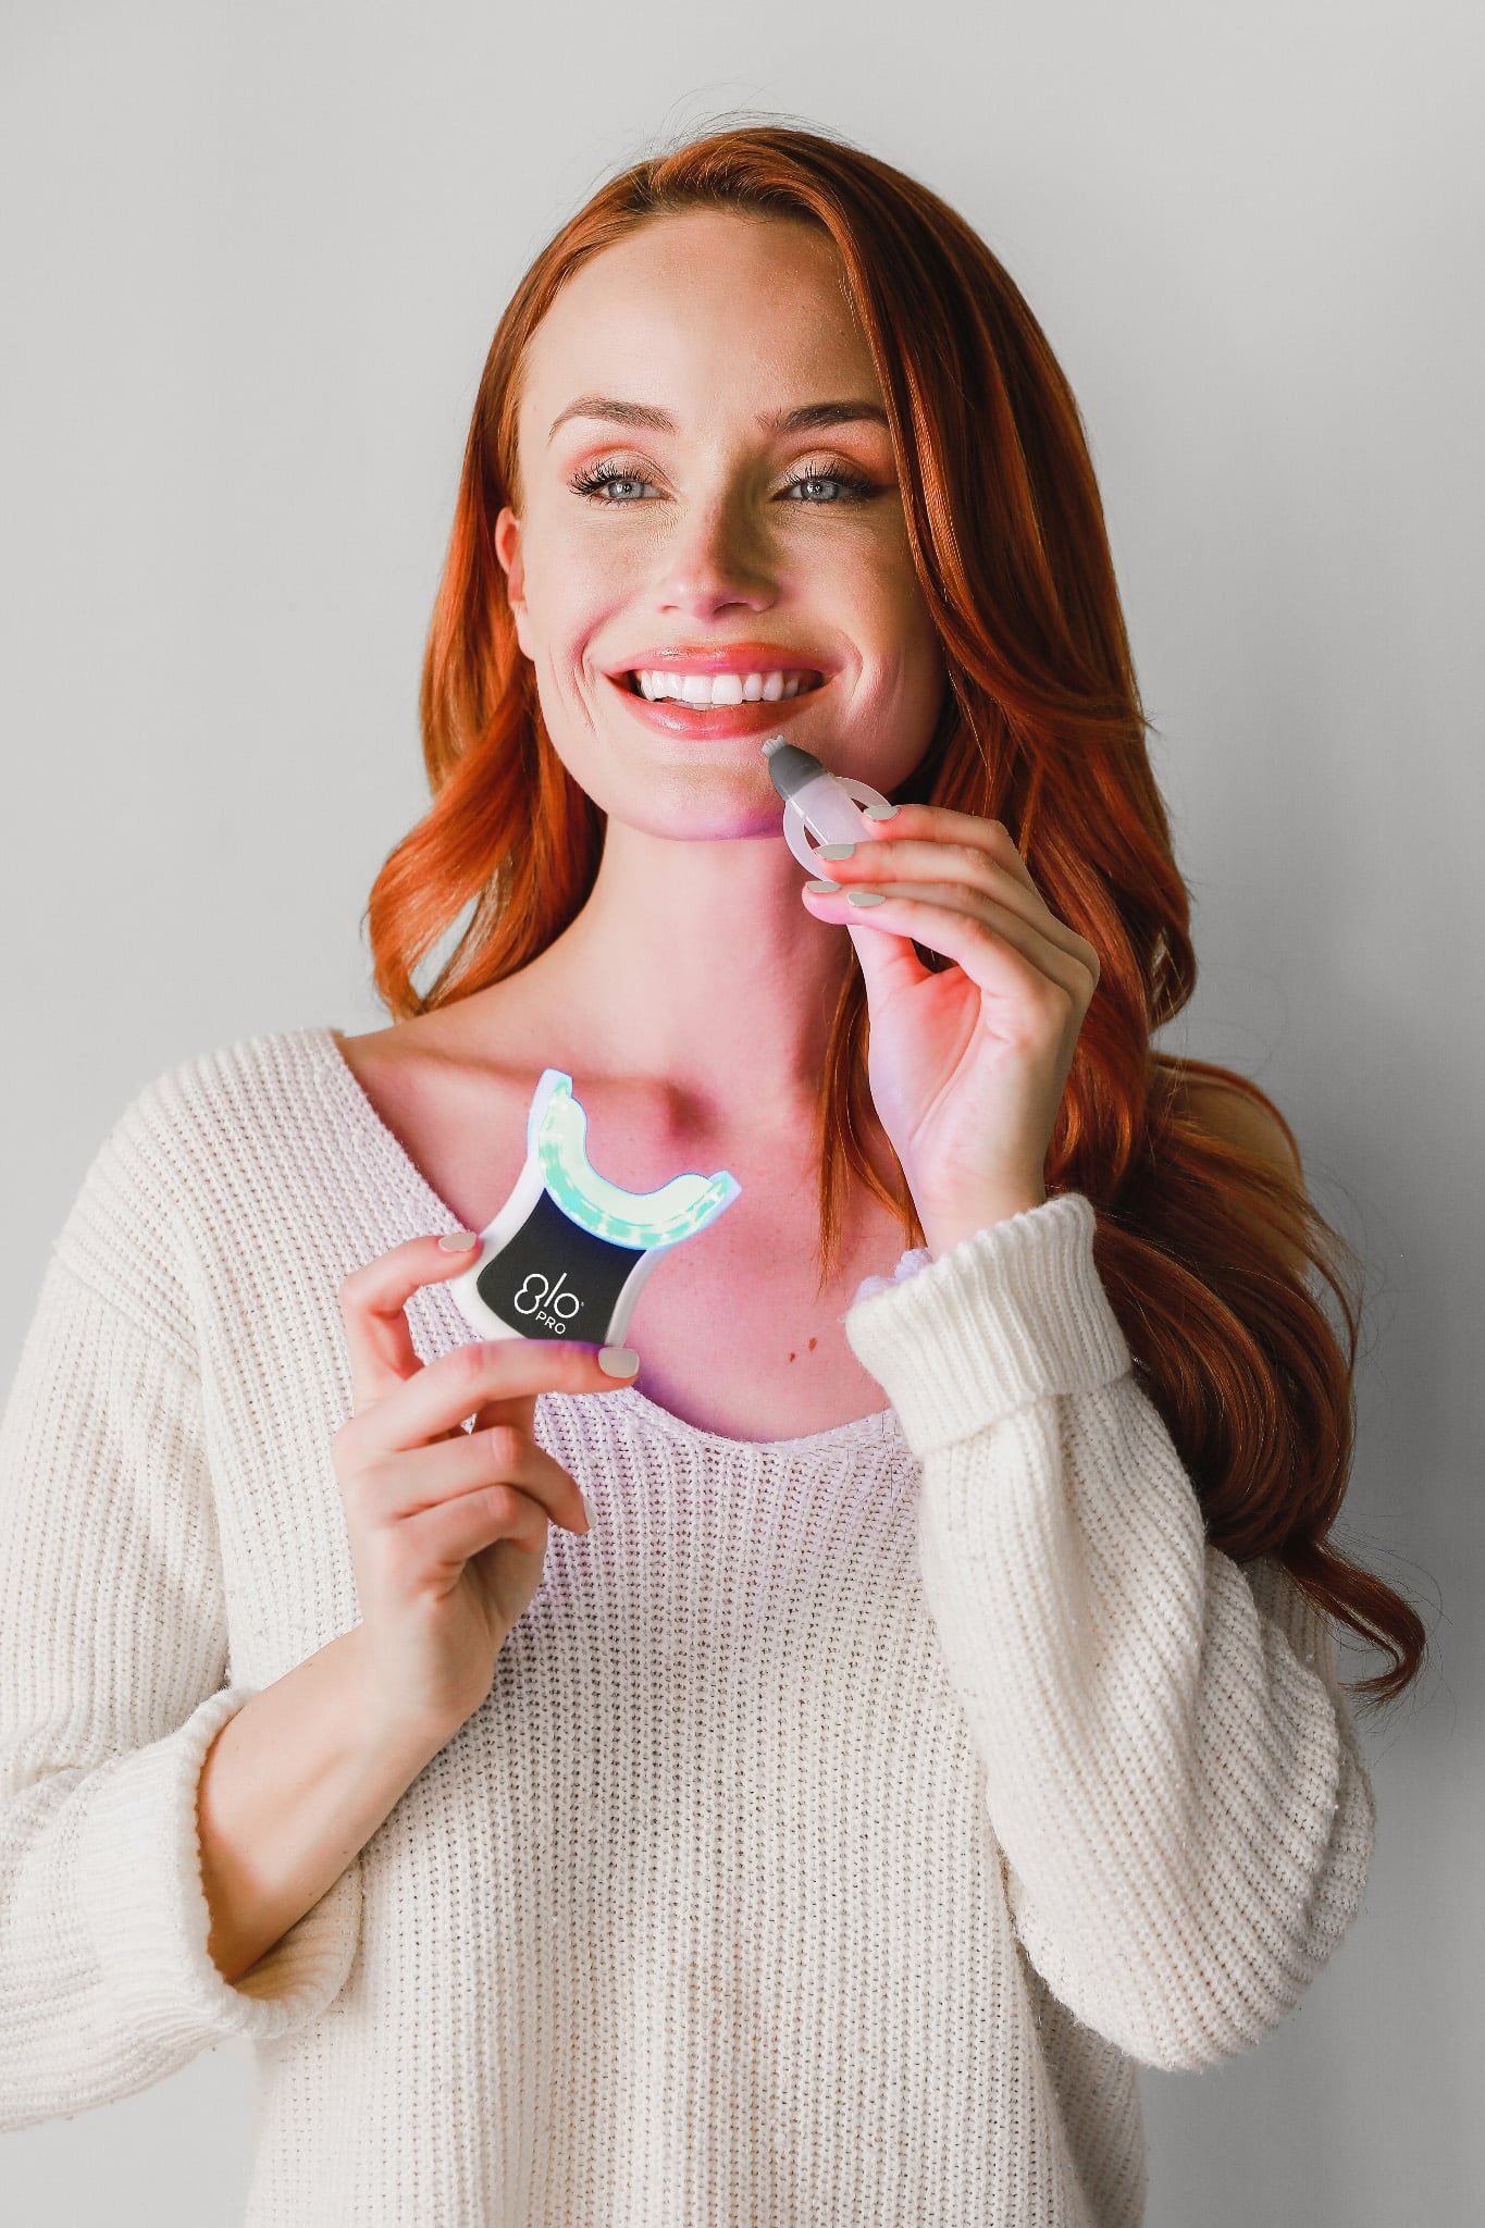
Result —
<path fill-rule="evenodd" d="M 1080 1190 L 1095 1208 L 1100 1279 L 1207 1537 L 1238 1562 L 1273 1557 L 1329 1615 L 1389 1646 L 1394 1667 L 1351 1691 L 1363 1709 L 1391 1702 L 1420 1669 L 1423 1622 L 1327 1544 L 1354 1448 L 1360 1263 L 1307 1201 L 1298 1150 L 1296 1172 L 1280 1172 L 1198 1105 L 1196 1085 L 1216 1083 L 1278 1114 L 1258 1085 L 1151 1045 L 1196 985 L 1189 891 L 1082 417 L 1009 272 L 915 178 L 793 123 L 715 129 L 601 185 L 521 278 L 479 381 L 423 662 L 434 802 L 387 856 L 365 913 L 376 991 L 394 1020 L 468 998 L 530 965 L 592 891 L 606 815 L 545 735 L 494 521 L 505 504 L 521 512 L 521 365 L 559 287 L 646 221 L 701 207 L 810 223 L 839 250 L 951 677 L 897 798 L 1002 820 L 1046 905 L 1100 954 L 1046 1192 Z M 445 936 L 419 991 L 412 969 Z M 899 1214 L 908 1245 L 924 1243 L 902 1167 L 884 1190 L 859 1145 L 866 1023 L 853 951 L 817 1098 L 822 1286 L 848 1172 Z"/>

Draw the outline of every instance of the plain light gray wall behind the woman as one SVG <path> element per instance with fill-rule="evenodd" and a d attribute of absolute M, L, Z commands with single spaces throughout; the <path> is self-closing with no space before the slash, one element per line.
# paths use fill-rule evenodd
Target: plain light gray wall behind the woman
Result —
<path fill-rule="evenodd" d="M 425 809 L 423 633 L 530 256 L 719 111 L 846 131 L 980 227 L 1080 397 L 1198 905 L 1200 989 L 1164 1043 L 1262 1083 L 1367 1257 L 1343 1537 L 1436 1651 L 1363 1729 L 1380 1829 L 1338 1956 L 1260 2050 L 1140 2074 L 1149 2221 L 1463 2221 L 1485 2179 L 1467 7 L 51 0 L 0 25 L 4 1381 L 147 1078 L 385 1020 L 361 911 Z M 232 2224 L 249 2137 L 225 2045 L 2 2139 L 0 2219 Z"/>

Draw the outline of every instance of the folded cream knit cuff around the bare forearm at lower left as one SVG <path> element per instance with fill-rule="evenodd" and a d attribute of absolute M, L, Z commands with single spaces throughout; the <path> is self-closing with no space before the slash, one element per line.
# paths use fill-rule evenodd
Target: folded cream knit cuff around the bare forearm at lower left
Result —
<path fill-rule="evenodd" d="M 252 1700 L 220 1687 L 191 1716 L 107 1769 L 78 1834 L 78 1903 L 98 1970 L 129 2025 L 196 2050 L 234 2034 L 272 2043 L 345 1985 L 361 1936 L 361 1867 L 350 1865 L 245 1974 L 209 1950 L 196 1789 L 220 1727 Z"/>

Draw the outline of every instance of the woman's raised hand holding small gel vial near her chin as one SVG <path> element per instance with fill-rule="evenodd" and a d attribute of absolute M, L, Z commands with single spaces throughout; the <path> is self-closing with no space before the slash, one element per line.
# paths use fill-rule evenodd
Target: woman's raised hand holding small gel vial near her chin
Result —
<path fill-rule="evenodd" d="M 871 1014 L 866 1078 L 935 1257 L 1046 1199 L 1046 1147 L 1098 987 L 1098 954 L 1058 920 L 1000 820 L 902 804 L 853 858 L 822 860 Z M 850 889 L 882 891 L 850 905 Z M 882 934 L 886 931 L 886 934 Z M 935 974 L 913 940 L 957 965 Z"/>

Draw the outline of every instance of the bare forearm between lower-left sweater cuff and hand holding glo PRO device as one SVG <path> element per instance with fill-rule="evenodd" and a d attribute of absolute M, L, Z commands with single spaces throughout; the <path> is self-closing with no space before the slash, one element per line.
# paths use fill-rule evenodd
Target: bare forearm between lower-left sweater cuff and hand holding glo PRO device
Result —
<path fill-rule="evenodd" d="M 363 1626 L 265 1687 L 212 1742 L 196 1787 L 207 1950 L 256 1965 L 361 1854 L 450 1733 L 387 1729 L 365 1704 Z"/>

